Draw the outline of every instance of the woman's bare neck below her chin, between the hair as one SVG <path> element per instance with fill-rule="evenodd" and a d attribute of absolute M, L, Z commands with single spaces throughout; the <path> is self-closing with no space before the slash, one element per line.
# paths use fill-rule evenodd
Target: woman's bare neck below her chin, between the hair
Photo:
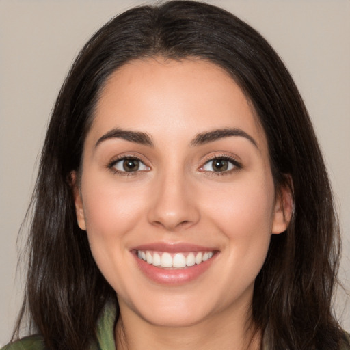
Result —
<path fill-rule="evenodd" d="M 118 350 L 258 350 L 260 332 L 247 321 L 242 312 L 219 312 L 214 317 L 186 327 L 153 325 L 131 312 L 123 315 L 116 325 Z M 124 317 L 123 317 L 124 316 Z"/>

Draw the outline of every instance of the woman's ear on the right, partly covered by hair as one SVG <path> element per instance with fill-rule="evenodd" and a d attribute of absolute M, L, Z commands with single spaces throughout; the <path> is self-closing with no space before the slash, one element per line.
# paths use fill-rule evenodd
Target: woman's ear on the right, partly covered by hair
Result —
<path fill-rule="evenodd" d="M 293 183 L 291 176 L 287 176 L 287 183 L 280 187 L 273 211 L 272 233 L 279 234 L 288 228 L 293 214 Z"/>

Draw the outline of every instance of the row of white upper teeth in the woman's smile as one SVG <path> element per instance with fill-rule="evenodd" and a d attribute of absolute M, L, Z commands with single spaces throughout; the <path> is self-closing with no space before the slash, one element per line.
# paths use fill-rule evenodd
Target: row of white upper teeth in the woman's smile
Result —
<path fill-rule="evenodd" d="M 157 253 L 152 251 L 138 250 L 137 256 L 139 259 L 146 261 L 150 265 L 163 268 L 182 269 L 184 267 L 191 267 L 199 265 L 202 262 L 213 257 L 213 252 L 189 252 L 172 254 L 164 252 Z"/>

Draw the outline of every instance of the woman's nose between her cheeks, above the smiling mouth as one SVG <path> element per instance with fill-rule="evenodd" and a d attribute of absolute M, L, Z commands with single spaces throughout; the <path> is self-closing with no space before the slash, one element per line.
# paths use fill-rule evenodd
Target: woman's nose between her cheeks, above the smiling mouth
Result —
<path fill-rule="evenodd" d="M 183 174 L 163 174 L 154 179 L 148 221 L 153 226 L 176 232 L 200 220 L 196 190 Z"/>

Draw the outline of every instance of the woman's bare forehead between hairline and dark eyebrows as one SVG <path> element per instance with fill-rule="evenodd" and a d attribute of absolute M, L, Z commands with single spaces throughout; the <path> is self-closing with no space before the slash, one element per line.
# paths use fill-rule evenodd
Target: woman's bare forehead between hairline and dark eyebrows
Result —
<path fill-rule="evenodd" d="M 258 117 L 232 77 L 202 59 L 135 59 L 107 79 L 92 133 L 112 128 L 189 135 L 239 127 L 265 144 Z M 178 133 L 176 135 L 176 133 Z"/>

